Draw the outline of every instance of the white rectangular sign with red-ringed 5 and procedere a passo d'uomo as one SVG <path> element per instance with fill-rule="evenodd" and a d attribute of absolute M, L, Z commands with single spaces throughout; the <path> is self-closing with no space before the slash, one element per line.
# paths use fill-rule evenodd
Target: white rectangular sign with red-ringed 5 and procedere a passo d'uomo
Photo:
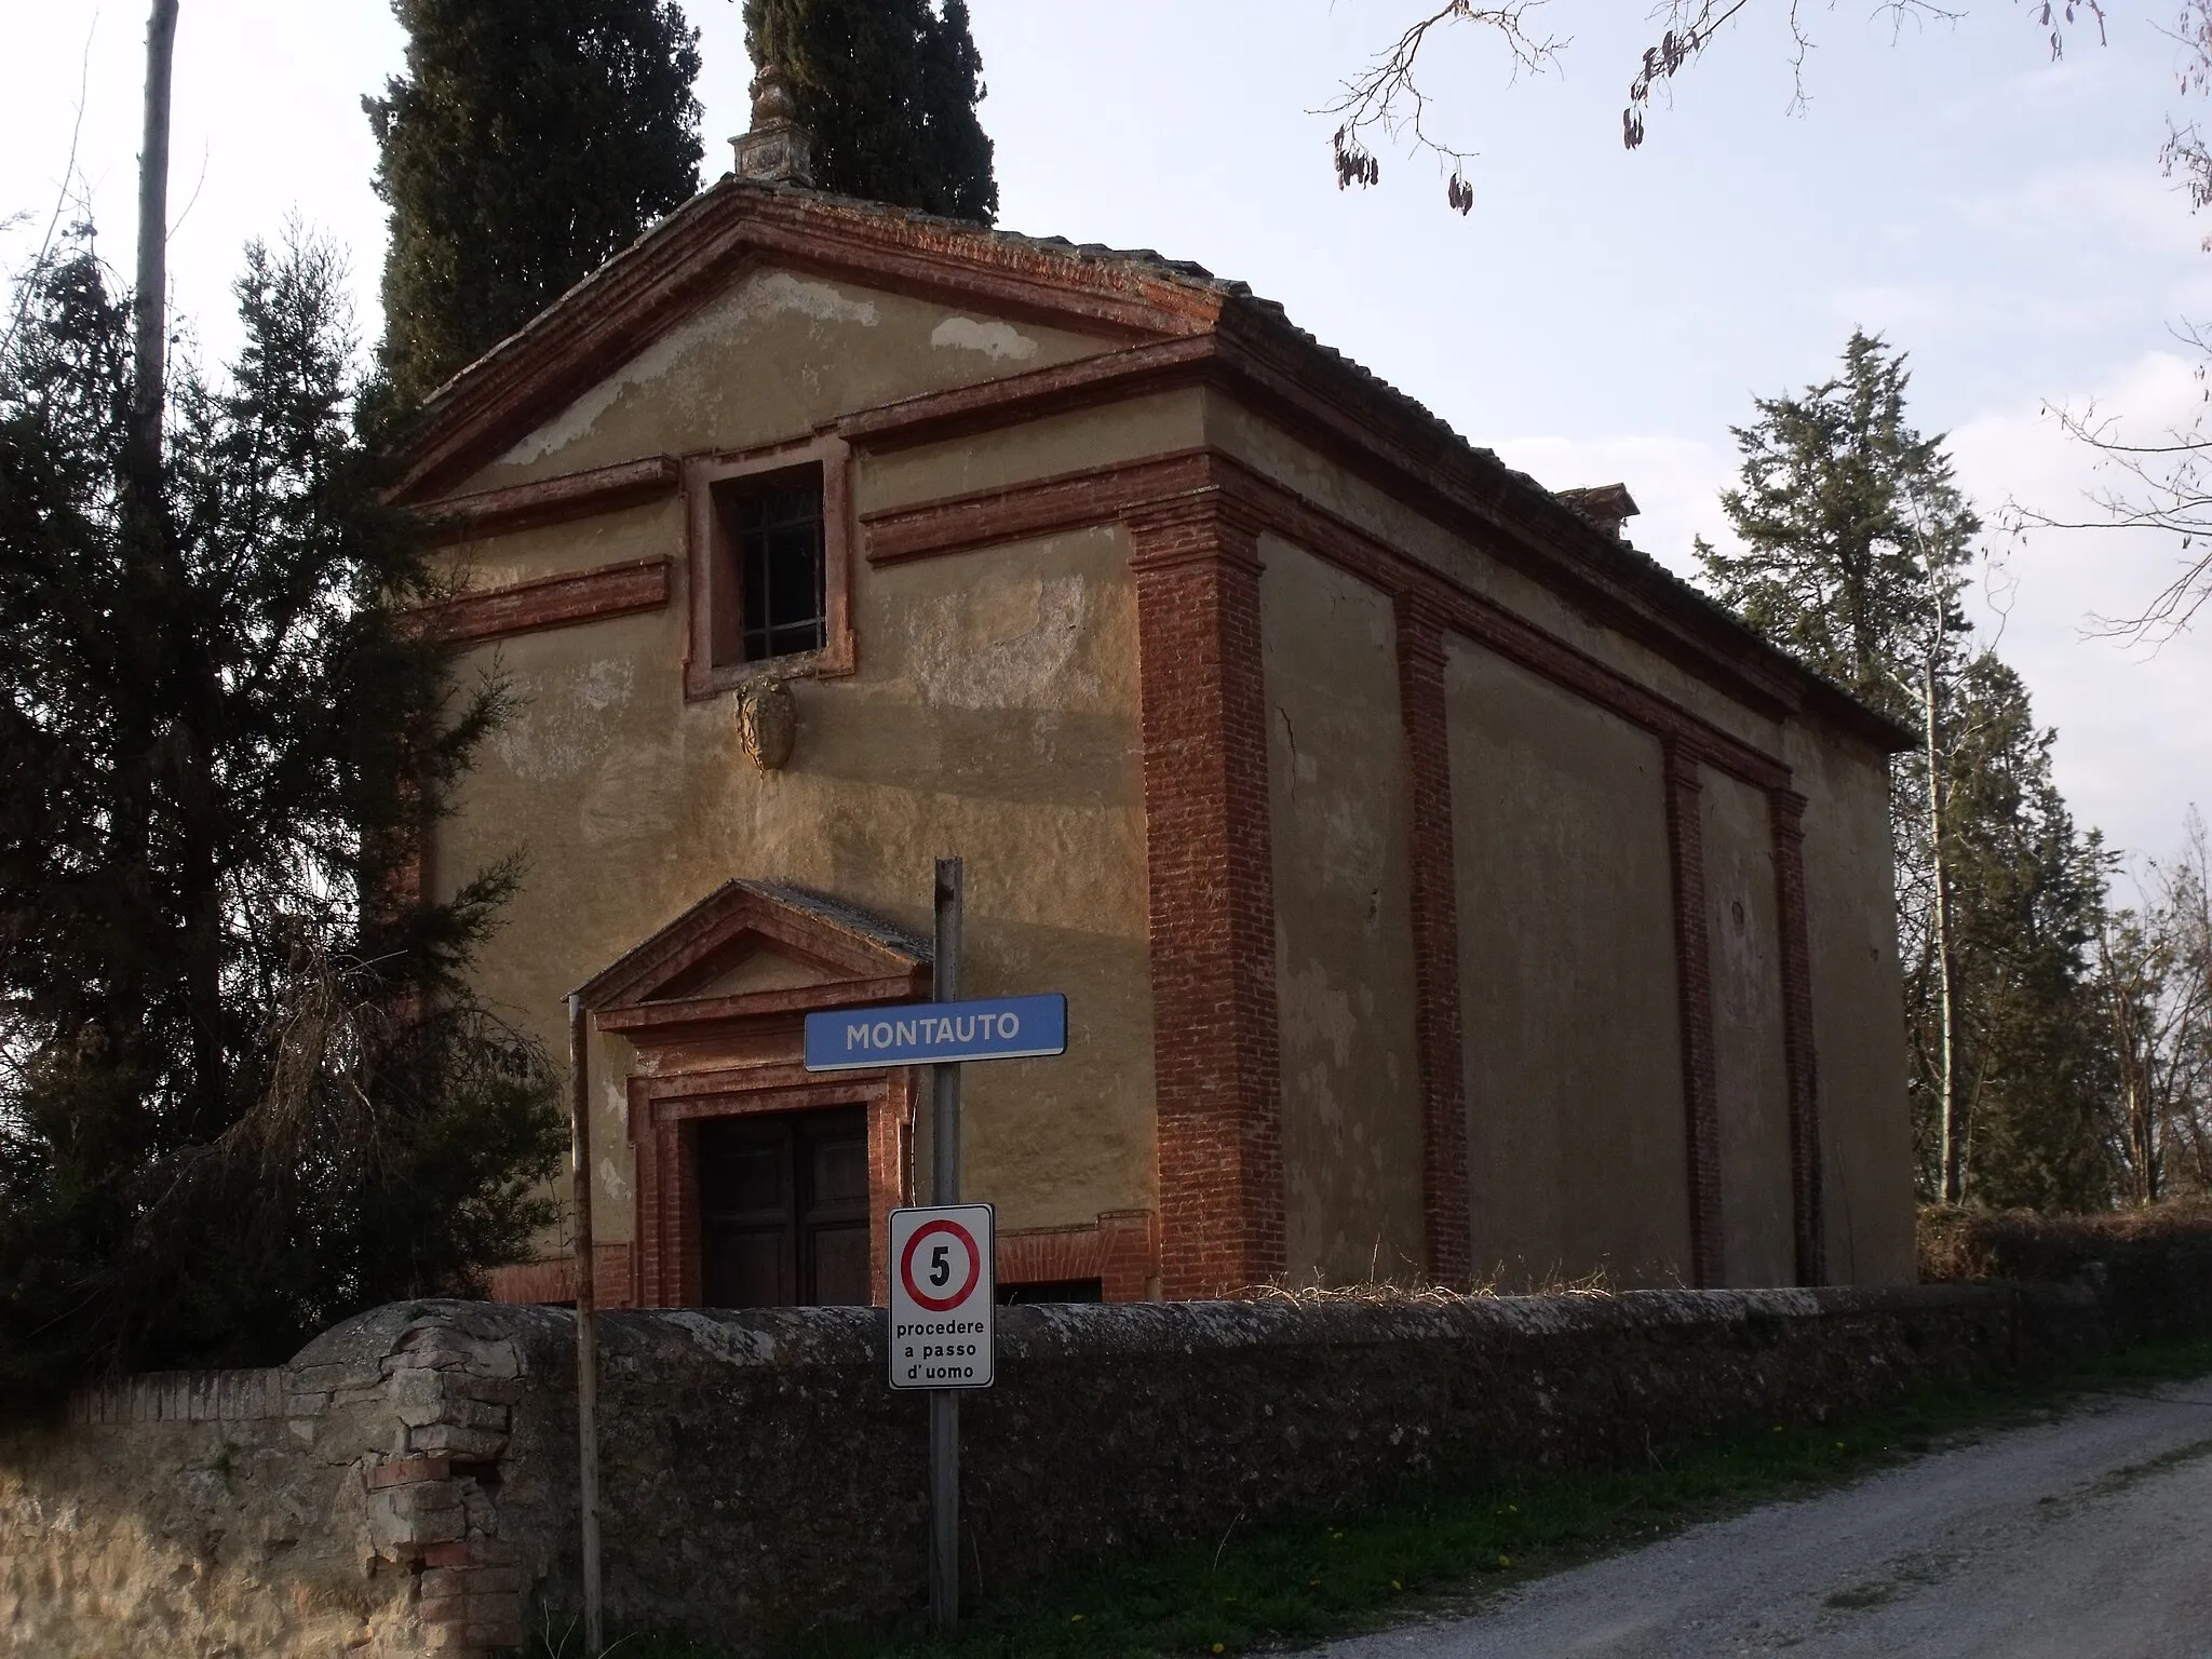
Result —
<path fill-rule="evenodd" d="M 891 1210 L 891 1387 L 991 1387 L 989 1203 Z"/>

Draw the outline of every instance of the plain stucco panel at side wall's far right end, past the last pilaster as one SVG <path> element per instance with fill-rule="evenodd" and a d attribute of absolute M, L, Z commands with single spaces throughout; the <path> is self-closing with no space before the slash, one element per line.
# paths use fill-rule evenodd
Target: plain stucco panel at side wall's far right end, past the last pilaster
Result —
<path fill-rule="evenodd" d="M 1909 1283 L 1913 1130 L 1905 1099 L 1889 770 L 1876 754 L 1801 732 L 1790 739 L 1792 779 L 1805 796 L 1827 1270 L 1845 1283 Z"/>

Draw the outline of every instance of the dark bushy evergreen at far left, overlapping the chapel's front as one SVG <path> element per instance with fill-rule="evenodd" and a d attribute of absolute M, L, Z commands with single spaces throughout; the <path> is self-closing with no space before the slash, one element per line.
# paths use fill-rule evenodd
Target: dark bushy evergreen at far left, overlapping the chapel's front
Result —
<path fill-rule="evenodd" d="M 562 1133 L 471 1002 L 515 880 L 411 891 L 498 688 L 407 624 L 338 261 L 252 250 L 173 376 L 148 504 L 131 307 L 77 248 L 0 358 L 0 1394 L 270 1363 L 513 1259 Z"/>

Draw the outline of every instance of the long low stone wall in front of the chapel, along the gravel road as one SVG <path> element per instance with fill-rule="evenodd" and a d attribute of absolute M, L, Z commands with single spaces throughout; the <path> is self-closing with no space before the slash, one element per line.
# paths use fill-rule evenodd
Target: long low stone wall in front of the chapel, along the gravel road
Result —
<path fill-rule="evenodd" d="M 1000 1385 L 962 1405 L 967 1571 L 989 1590 L 1405 1482 L 1644 1462 L 2121 1321 L 2093 1285 L 1011 1307 Z M 883 1340 L 876 1310 L 604 1316 L 617 1628 L 757 1646 L 918 1606 L 925 1400 L 889 1394 Z M 281 1371 L 137 1378 L 0 1433 L 0 1652 L 385 1659 L 557 1624 L 573 1343 L 560 1310 L 396 1305 Z"/>

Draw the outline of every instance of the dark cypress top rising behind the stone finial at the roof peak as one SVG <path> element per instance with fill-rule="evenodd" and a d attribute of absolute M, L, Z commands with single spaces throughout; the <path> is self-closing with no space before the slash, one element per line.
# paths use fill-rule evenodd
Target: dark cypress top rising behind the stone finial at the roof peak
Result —
<path fill-rule="evenodd" d="M 991 223 L 998 181 L 975 119 L 982 55 L 967 0 L 745 0 L 752 62 L 783 64 L 814 137 L 814 184 Z"/>

